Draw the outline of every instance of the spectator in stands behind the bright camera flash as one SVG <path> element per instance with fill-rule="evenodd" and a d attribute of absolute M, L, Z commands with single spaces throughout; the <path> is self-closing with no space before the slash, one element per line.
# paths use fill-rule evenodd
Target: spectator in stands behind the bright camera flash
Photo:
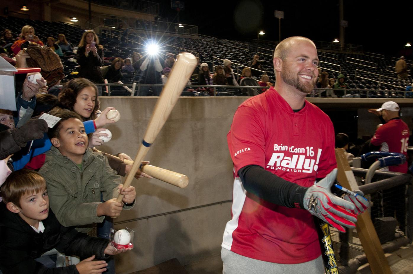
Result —
<path fill-rule="evenodd" d="M 140 84 L 161 84 L 162 83 L 162 65 L 159 62 L 158 55 L 147 55 L 145 60 L 140 65 L 140 75 L 138 76 L 138 83 Z M 137 78 L 135 76 L 135 78 Z M 139 86 L 138 95 L 139 96 L 149 96 L 150 91 L 154 96 L 159 96 L 162 91 L 161 86 Z"/>

